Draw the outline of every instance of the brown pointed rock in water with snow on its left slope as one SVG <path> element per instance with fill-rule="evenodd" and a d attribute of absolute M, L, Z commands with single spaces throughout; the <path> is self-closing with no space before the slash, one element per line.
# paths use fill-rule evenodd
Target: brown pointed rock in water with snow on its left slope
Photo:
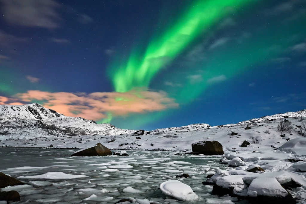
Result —
<path fill-rule="evenodd" d="M 81 149 L 71 155 L 71 157 L 92 157 L 92 156 L 108 156 L 112 155 L 112 152 L 107 147 L 103 146 L 100 142 L 93 147 L 87 149 Z"/>

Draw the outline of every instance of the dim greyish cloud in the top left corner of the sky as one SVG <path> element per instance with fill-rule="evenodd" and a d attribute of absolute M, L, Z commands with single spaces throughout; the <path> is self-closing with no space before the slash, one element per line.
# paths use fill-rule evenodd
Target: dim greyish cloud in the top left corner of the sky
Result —
<path fill-rule="evenodd" d="M 24 27 L 56 28 L 60 19 L 54 0 L 2 0 L 2 13 L 6 22 Z"/>

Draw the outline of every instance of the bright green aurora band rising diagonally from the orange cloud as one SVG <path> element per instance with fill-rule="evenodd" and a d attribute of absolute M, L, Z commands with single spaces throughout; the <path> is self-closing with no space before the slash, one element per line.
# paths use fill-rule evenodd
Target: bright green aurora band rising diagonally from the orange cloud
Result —
<path fill-rule="evenodd" d="M 135 48 L 126 63 L 110 66 L 116 92 L 135 87 L 148 87 L 155 74 L 169 64 L 200 34 L 218 23 L 234 10 L 254 2 L 252 0 L 198 0 L 177 23 L 156 39 L 151 40 L 144 55 Z M 114 71 L 115 70 L 115 71 Z"/>

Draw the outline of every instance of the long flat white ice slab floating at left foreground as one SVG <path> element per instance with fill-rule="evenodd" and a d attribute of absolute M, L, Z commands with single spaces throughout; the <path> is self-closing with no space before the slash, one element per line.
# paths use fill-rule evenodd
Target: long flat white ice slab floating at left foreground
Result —
<path fill-rule="evenodd" d="M 87 178 L 89 176 L 85 175 L 73 175 L 73 174 L 65 174 L 63 172 L 47 172 L 42 175 L 35 176 L 19 176 L 17 179 L 52 179 L 52 180 L 61 180 L 61 179 L 80 179 Z"/>

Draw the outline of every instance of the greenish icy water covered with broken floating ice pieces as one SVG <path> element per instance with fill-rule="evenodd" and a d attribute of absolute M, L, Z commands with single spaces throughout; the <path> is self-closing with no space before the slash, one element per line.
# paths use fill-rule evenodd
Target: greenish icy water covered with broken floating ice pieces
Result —
<path fill-rule="evenodd" d="M 219 157 L 173 156 L 169 155 L 170 152 L 157 151 L 127 151 L 127 157 L 69 157 L 74 151 L 0 148 L 0 171 L 15 178 L 25 176 L 19 179 L 30 186 L 16 189 L 21 195 L 21 202 L 18 203 L 106 204 L 128 197 L 135 198 L 140 204 L 149 204 L 149 201 L 162 204 L 190 203 L 177 201 L 159 189 L 162 182 L 176 179 L 175 176 L 181 173 L 190 176 L 179 180 L 189 185 L 199 196 L 199 201 L 195 203 L 245 203 L 238 202 L 237 198 L 211 195 L 212 186 L 202 184 L 208 174 L 225 169 L 226 166 L 218 163 Z M 49 173 L 47 177 L 26 177 L 48 172 L 86 177 L 58 178 L 63 176 L 58 173 Z"/>

